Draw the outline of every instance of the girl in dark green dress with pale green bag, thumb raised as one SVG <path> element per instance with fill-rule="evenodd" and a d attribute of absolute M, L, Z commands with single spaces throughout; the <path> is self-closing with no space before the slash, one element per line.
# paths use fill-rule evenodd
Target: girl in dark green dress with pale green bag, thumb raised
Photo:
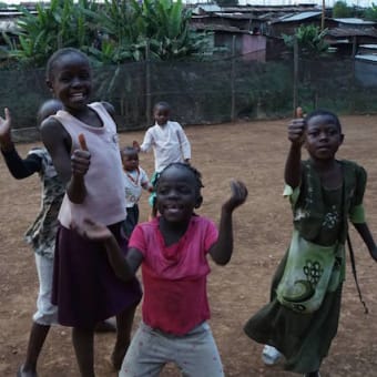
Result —
<path fill-rule="evenodd" d="M 284 195 L 292 204 L 293 237 L 271 302 L 246 323 L 245 333 L 283 354 L 285 369 L 318 377 L 338 327 L 348 218 L 375 261 L 377 248 L 364 215 L 366 172 L 336 160 L 344 140 L 338 118 L 317 110 L 295 119 L 288 139 Z"/>

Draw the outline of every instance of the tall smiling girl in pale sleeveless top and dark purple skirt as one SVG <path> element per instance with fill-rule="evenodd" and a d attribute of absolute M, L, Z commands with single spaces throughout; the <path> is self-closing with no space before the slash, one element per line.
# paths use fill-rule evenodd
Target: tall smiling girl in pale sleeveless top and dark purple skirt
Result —
<path fill-rule="evenodd" d="M 91 69 L 80 50 L 65 48 L 53 53 L 47 65 L 47 83 L 64 109 L 41 126 L 42 141 L 65 185 L 59 212 L 52 302 L 58 305 L 59 323 L 73 327 L 81 375 L 92 377 L 95 324 L 116 316 L 112 363 L 119 369 L 142 296 L 136 278 L 125 284 L 115 276 L 102 245 L 70 228 L 72 221 L 80 224 L 90 216 L 109 226 L 126 253 L 121 228 L 126 215 L 123 172 L 114 111 L 109 103 L 89 104 Z"/>

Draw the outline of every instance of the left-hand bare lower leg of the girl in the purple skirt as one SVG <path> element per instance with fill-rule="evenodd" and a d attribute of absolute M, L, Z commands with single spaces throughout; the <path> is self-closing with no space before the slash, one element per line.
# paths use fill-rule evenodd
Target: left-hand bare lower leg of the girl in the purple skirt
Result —
<path fill-rule="evenodd" d="M 94 377 L 94 329 L 78 328 L 72 329 L 72 343 L 78 359 L 80 374 L 82 377 Z"/>

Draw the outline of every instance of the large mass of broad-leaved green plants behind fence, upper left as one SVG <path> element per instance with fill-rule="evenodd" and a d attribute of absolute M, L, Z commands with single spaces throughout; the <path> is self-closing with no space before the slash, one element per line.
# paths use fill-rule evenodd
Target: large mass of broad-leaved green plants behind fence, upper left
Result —
<path fill-rule="evenodd" d="M 4 35 L 13 64 L 42 67 L 53 51 L 75 47 L 98 63 L 176 60 L 200 54 L 207 35 L 190 30 L 191 12 L 173 0 L 51 0 L 37 14 L 19 7 L 17 37 Z"/>

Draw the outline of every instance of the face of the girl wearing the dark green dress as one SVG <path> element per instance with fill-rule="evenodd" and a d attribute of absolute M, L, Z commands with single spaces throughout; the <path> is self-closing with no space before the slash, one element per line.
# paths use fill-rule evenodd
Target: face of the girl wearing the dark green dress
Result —
<path fill-rule="evenodd" d="M 333 118 L 318 114 L 307 121 L 305 146 L 314 160 L 332 160 L 344 135 Z"/>

